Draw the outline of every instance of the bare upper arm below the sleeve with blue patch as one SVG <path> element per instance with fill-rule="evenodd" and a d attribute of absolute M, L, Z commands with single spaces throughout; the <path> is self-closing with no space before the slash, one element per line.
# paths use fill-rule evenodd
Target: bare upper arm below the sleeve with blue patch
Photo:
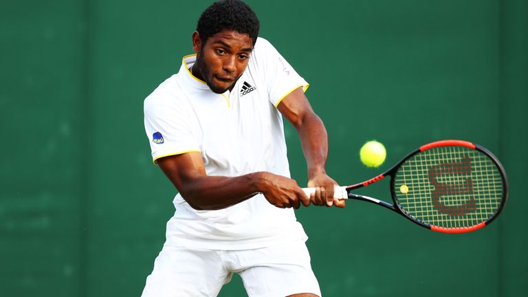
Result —
<path fill-rule="evenodd" d="M 191 185 L 194 179 L 206 175 L 199 152 L 162 157 L 157 159 L 157 164 L 179 192 L 186 192 L 186 186 Z"/>

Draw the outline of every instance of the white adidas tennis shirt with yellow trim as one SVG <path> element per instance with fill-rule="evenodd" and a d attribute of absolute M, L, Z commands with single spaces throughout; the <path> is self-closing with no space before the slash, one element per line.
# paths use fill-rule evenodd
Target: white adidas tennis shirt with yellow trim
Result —
<path fill-rule="evenodd" d="M 283 119 L 276 106 L 294 89 L 306 90 L 308 83 L 262 38 L 245 72 L 224 94 L 192 76 L 188 69 L 195 60 L 195 55 L 185 56 L 179 72 L 144 101 L 154 162 L 197 151 L 207 175 L 269 171 L 289 177 Z M 195 210 L 180 194 L 173 203 L 166 245 L 245 250 L 307 239 L 293 209 L 277 208 L 261 194 L 221 210 Z"/>

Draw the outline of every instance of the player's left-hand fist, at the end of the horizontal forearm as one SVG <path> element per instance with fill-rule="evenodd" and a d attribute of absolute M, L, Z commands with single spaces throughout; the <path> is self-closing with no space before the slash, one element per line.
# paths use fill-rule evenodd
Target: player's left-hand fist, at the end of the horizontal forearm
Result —
<path fill-rule="evenodd" d="M 310 205 L 310 199 L 297 181 L 273 173 L 264 173 L 261 192 L 267 201 L 278 208 L 299 208 L 300 204 Z"/>

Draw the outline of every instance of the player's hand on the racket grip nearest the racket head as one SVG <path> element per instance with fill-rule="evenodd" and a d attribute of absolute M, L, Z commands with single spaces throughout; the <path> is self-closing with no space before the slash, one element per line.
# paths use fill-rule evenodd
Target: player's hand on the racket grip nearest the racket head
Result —
<path fill-rule="evenodd" d="M 329 177 L 326 173 L 314 175 L 308 181 L 309 188 L 316 188 L 316 192 L 310 195 L 310 201 L 317 206 L 337 206 L 344 208 L 345 199 L 334 199 L 333 188 L 338 186 L 338 183 Z"/>

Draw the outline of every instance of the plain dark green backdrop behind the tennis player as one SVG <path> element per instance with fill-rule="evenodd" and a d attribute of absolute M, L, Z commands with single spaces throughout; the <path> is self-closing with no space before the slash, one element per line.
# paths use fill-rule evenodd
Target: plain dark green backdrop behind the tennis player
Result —
<path fill-rule="evenodd" d="M 192 52 L 211 1 L 20 0 L 0 10 L 0 295 L 140 296 L 175 189 L 151 162 L 142 102 Z M 421 144 L 463 139 L 502 160 L 489 228 L 445 235 L 369 203 L 296 212 L 324 296 L 528 292 L 528 2 L 248 1 L 261 36 L 311 83 L 343 184 Z M 292 175 L 305 162 L 286 125 Z M 381 199 L 388 181 L 364 189 Z M 220 296 L 245 296 L 235 277 Z"/>

